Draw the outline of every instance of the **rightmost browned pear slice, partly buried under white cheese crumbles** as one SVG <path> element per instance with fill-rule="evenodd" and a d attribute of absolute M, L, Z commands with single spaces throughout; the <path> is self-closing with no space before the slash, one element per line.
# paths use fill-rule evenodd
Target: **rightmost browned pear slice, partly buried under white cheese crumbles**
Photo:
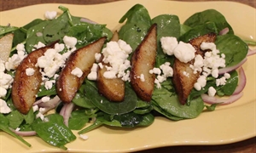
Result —
<path fill-rule="evenodd" d="M 201 37 L 195 37 L 190 40 L 189 43 L 195 48 L 195 54 L 201 54 L 204 56 L 204 52 L 201 50 L 202 42 L 215 42 L 216 35 L 215 34 L 207 34 Z M 191 90 L 194 88 L 195 82 L 200 77 L 200 73 L 194 73 L 194 71 L 190 68 L 190 65 L 194 64 L 194 59 L 189 61 L 188 63 L 183 63 L 178 59 L 174 60 L 173 65 L 173 83 L 176 88 L 177 98 L 179 102 L 184 105 L 187 102 L 189 94 Z M 183 72 L 186 72 L 188 75 L 183 75 Z"/>

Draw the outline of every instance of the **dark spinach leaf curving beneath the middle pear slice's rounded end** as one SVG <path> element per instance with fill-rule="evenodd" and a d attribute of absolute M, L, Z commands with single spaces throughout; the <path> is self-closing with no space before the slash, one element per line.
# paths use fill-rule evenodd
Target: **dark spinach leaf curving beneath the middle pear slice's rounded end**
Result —
<path fill-rule="evenodd" d="M 101 111 L 110 115 L 120 115 L 133 111 L 137 105 L 137 95 L 125 85 L 125 99 L 122 102 L 111 102 L 104 96 L 100 95 L 96 88 L 95 82 L 86 80 L 85 95 Z"/>

